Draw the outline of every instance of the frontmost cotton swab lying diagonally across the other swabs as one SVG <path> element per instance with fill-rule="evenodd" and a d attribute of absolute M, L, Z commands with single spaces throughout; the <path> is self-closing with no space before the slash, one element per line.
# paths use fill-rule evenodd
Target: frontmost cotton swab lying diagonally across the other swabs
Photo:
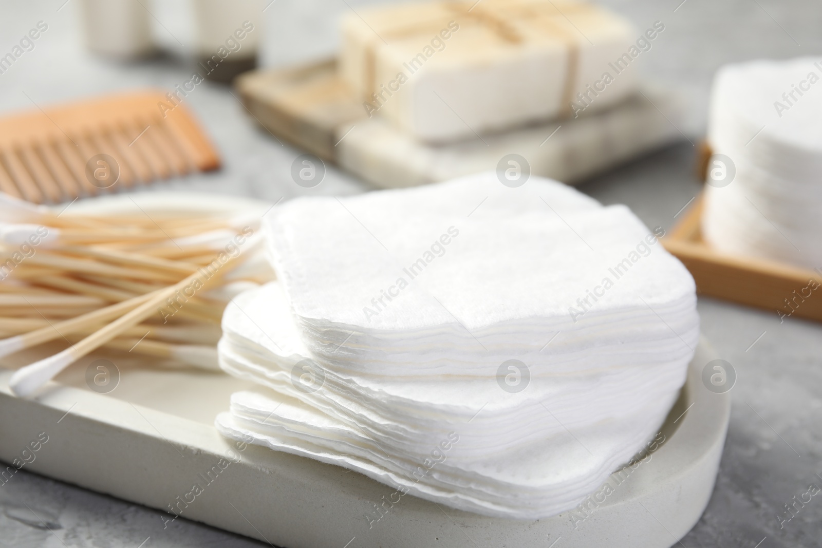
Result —
<path fill-rule="evenodd" d="M 237 260 L 238 256 L 239 255 L 234 257 L 229 256 L 225 263 L 222 264 L 222 267 L 225 267 L 234 260 Z M 62 352 L 58 352 L 57 354 L 43 360 L 35 361 L 35 363 L 16 371 L 9 380 L 9 388 L 21 397 L 32 394 L 36 389 L 39 389 L 40 386 L 44 385 L 48 382 L 48 380 L 51 380 L 54 375 L 57 375 L 73 361 L 76 361 L 89 352 L 94 351 L 101 345 L 108 343 L 110 340 L 121 334 L 123 330 L 141 323 L 141 321 L 145 320 L 145 318 L 155 312 L 157 306 L 161 305 L 164 300 L 170 295 L 173 295 L 174 292 L 187 287 L 192 287 L 192 284 L 197 284 L 198 288 L 205 288 L 209 283 L 214 283 L 216 279 L 219 279 L 219 276 L 213 275 L 208 278 L 200 271 L 197 271 L 191 276 L 188 276 L 186 279 L 182 279 L 168 288 L 160 289 L 157 292 L 144 296 L 147 297 L 145 302 L 142 302 L 132 311 L 122 315 L 118 318 L 118 320 L 114 320 L 109 325 L 106 325 L 103 329 L 99 329 L 99 331 L 95 332 L 95 334 L 89 335 L 79 343 L 72 345 L 70 348 L 66 348 Z M 21 337 L 25 337 L 25 335 L 21 335 Z"/>

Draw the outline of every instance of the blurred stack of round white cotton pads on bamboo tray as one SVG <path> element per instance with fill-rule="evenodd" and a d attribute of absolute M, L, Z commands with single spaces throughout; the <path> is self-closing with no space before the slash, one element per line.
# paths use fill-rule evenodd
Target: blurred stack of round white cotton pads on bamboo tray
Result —
<path fill-rule="evenodd" d="M 723 67 L 702 228 L 721 251 L 822 265 L 822 58 Z"/>

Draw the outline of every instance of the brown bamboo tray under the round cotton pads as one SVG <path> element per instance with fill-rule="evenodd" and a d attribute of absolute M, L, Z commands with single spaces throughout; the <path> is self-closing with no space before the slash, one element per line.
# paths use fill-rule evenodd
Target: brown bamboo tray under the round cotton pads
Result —
<path fill-rule="evenodd" d="M 697 292 L 774 311 L 780 318 L 795 315 L 822 321 L 822 299 L 801 296 L 801 290 L 811 280 L 822 284 L 819 272 L 713 250 L 702 239 L 702 208 L 699 196 L 671 234 L 662 240 L 667 251 L 690 270 Z"/>

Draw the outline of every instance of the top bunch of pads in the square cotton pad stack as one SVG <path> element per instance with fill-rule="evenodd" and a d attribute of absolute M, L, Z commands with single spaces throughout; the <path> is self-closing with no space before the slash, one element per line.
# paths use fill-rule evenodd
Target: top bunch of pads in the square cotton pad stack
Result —
<path fill-rule="evenodd" d="M 492 219 L 490 198 L 470 217 L 432 218 L 424 207 L 470 213 L 473 202 L 418 205 L 414 196 L 425 189 L 392 198 L 402 192 L 293 200 L 271 216 L 275 270 L 317 355 L 364 367 L 406 361 L 404 352 L 420 348 L 436 361 L 457 348 L 472 363 L 494 361 L 511 357 L 512 343 L 538 352 L 557 331 L 597 329 L 620 313 L 638 322 L 624 329 L 641 331 L 644 318 L 649 338 L 672 336 L 660 316 L 669 325 L 684 321 L 673 329 L 695 336 L 693 317 L 681 312 L 693 303 L 690 274 L 624 206 L 571 200 L 569 193 L 581 195 L 543 180 L 522 192 L 530 210 L 515 218 Z M 634 264 L 643 268 L 626 275 Z M 594 291 L 602 297 L 590 297 Z"/>

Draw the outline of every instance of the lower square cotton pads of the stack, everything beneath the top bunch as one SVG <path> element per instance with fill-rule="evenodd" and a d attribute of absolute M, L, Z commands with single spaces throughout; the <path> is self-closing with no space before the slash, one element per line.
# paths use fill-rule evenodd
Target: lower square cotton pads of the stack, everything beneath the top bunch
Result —
<path fill-rule="evenodd" d="M 220 431 L 488 515 L 538 518 L 578 504 L 656 433 L 684 381 L 680 366 L 642 366 L 533 378 L 511 394 L 493 377 L 386 382 L 325 369 L 321 389 L 307 392 L 293 384 L 307 351 L 289 316 L 278 283 L 229 305 L 224 328 L 236 331 L 220 343 L 221 366 L 277 394 L 234 394 Z M 239 344 L 246 337 L 256 339 L 245 341 L 252 352 Z M 430 476 L 414 476 L 455 437 Z"/>

